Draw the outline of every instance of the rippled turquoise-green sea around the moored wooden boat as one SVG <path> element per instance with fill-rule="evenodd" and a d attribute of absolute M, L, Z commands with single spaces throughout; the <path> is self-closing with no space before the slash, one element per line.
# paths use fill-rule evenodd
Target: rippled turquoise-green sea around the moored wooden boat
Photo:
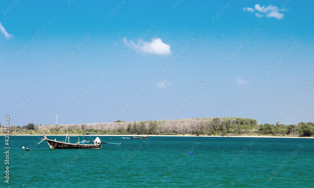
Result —
<path fill-rule="evenodd" d="M 3 161 L 0 187 L 314 187 L 314 139 L 100 136 L 121 145 L 50 149 L 41 138 L 10 136 L 10 183 Z"/>

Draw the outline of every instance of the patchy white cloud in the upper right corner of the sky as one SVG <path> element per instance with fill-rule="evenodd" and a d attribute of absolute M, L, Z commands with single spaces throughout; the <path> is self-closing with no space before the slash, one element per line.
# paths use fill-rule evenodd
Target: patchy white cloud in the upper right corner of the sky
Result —
<path fill-rule="evenodd" d="M 267 18 L 277 18 L 277 19 L 282 19 L 284 18 L 284 14 L 280 13 L 282 11 L 285 11 L 286 9 L 282 8 L 279 9 L 276 6 L 273 5 L 269 5 L 268 7 L 261 7 L 260 4 L 256 4 L 254 6 L 254 8 L 243 8 L 244 11 L 249 11 L 249 12 L 254 12 L 254 11 L 258 11 L 259 13 L 255 13 L 255 16 L 257 16 L 258 18 L 261 18 L 263 16 L 266 16 Z"/>

